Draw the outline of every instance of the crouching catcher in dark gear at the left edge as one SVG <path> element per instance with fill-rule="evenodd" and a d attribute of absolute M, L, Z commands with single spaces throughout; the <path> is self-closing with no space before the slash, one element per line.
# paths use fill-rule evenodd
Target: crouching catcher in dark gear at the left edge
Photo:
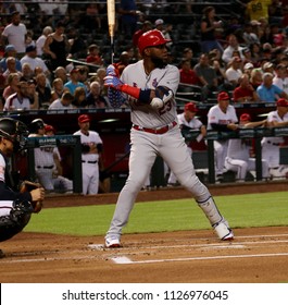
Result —
<path fill-rule="evenodd" d="M 0 119 L 0 242 L 20 233 L 33 212 L 39 212 L 45 190 L 39 184 L 24 182 L 20 192 L 14 192 L 9 171 L 9 158 L 25 146 L 27 127 L 10 118 Z M 0 257 L 3 257 L 0 249 Z"/>

